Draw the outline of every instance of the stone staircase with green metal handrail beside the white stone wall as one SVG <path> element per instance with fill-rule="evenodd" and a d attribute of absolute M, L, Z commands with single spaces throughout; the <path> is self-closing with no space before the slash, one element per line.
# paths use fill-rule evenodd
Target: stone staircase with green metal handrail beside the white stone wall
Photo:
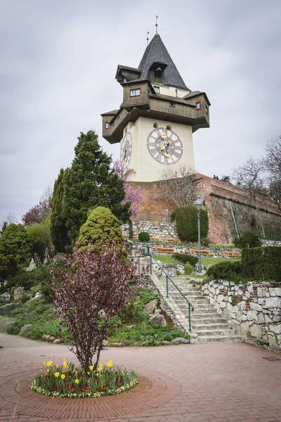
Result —
<path fill-rule="evenodd" d="M 171 277 L 174 283 L 194 306 L 191 312 L 192 331 L 198 335 L 198 343 L 209 341 L 242 341 L 233 326 L 210 305 L 201 288 L 194 286 L 186 277 Z M 188 305 L 178 290 L 169 282 L 169 296 L 188 319 Z"/>

